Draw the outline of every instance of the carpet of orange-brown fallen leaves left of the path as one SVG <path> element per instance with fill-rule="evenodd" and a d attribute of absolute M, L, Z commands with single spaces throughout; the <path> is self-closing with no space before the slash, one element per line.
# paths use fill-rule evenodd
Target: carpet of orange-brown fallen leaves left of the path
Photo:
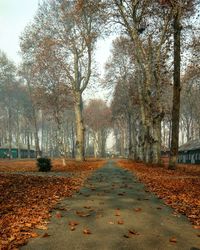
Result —
<path fill-rule="evenodd" d="M 36 172 L 33 160 L 0 161 L 0 250 L 17 249 L 31 237 L 37 237 L 34 228 L 45 229 L 50 211 L 62 197 L 71 196 L 80 189 L 92 170 L 104 161 L 53 161 L 55 172 L 76 171 L 73 178 L 19 175 L 14 172 Z"/>

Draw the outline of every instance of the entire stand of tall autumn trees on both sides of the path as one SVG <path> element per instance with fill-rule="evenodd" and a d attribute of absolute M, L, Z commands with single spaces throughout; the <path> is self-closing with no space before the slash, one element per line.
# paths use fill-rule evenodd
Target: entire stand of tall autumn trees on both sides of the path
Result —
<path fill-rule="evenodd" d="M 193 32 L 199 29 L 194 22 L 198 4 L 198 0 L 53 0 L 39 5 L 21 36 L 18 76 L 2 80 L 2 86 L 9 81 L 6 88 L 12 85 L 14 90 L 20 88 L 17 93 L 25 91 L 29 103 L 25 109 L 29 107 L 30 116 L 27 127 L 33 127 L 33 136 L 28 138 L 34 138 L 38 154 L 42 138 L 42 145 L 53 141 L 54 151 L 64 157 L 71 152 L 83 160 L 87 151 L 105 155 L 110 109 L 96 100 L 83 112 L 82 95 L 97 79 L 94 52 L 98 38 L 115 31 L 117 38 L 104 82 L 113 89 L 111 110 L 117 150 L 121 154 L 128 150 L 133 159 L 159 163 L 161 144 L 170 142 L 173 168 L 178 152 L 181 87 L 181 129 L 187 131 L 187 139 L 199 133 L 198 111 L 190 112 L 190 106 L 196 105 L 192 93 L 199 91 L 199 37 Z M 181 51 L 184 54 L 186 49 L 187 59 L 181 65 Z M 191 103 L 184 102 L 185 98 Z M 6 138 L 11 142 L 9 100 Z M 19 141 L 19 135 L 16 138 Z M 94 147 L 89 150 L 91 141 Z"/>

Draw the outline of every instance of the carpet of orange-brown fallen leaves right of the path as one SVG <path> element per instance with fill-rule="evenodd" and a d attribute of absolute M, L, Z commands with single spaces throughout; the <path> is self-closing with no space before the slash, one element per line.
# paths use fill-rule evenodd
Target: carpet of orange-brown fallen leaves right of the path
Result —
<path fill-rule="evenodd" d="M 194 225 L 200 226 L 200 169 L 179 165 L 172 171 L 166 166 L 147 166 L 130 160 L 118 163 L 133 171 L 149 191 L 162 198 L 175 212 L 186 215 Z"/>

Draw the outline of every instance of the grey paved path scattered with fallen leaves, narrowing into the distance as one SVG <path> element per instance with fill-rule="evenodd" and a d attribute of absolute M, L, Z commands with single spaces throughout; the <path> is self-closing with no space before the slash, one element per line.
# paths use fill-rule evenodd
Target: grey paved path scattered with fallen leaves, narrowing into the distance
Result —
<path fill-rule="evenodd" d="M 48 230 L 37 232 L 47 237 L 31 239 L 22 250 L 200 249 L 188 220 L 145 192 L 131 172 L 113 161 L 95 171 L 79 193 L 60 202 Z"/>

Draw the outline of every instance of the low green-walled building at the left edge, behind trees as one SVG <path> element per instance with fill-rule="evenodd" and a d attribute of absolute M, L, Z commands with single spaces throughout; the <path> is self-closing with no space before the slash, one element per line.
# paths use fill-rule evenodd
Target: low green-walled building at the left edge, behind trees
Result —
<path fill-rule="evenodd" d="M 35 158 L 36 152 L 33 146 L 28 149 L 27 145 L 20 144 L 19 147 L 12 144 L 11 155 L 9 152 L 9 145 L 4 144 L 0 146 L 1 159 L 16 159 L 16 158 Z"/>

